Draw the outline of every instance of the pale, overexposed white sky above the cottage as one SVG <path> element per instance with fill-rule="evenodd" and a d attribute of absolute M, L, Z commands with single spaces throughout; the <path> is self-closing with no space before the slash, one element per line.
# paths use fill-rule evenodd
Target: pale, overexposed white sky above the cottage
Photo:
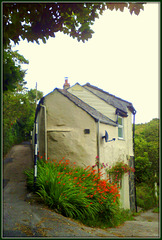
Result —
<path fill-rule="evenodd" d="M 160 118 L 160 4 L 147 3 L 138 16 L 106 10 L 92 26 L 93 37 L 78 42 L 56 33 L 44 44 L 21 40 L 13 47 L 29 60 L 28 89 L 44 95 L 76 82 L 103 89 L 133 104 L 136 123 Z"/>

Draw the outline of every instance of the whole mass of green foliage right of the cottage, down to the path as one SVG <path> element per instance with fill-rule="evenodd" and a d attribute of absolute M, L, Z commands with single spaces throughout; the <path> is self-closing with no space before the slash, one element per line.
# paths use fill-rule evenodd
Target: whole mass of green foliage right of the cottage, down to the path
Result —
<path fill-rule="evenodd" d="M 158 206 L 155 183 L 159 185 L 159 119 L 135 128 L 137 205 L 145 210 Z"/>

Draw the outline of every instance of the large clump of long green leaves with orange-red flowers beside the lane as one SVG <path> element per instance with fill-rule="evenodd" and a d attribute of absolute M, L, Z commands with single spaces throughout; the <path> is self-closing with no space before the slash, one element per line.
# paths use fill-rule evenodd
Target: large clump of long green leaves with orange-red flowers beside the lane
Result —
<path fill-rule="evenodd" d="M 33 169 L 26 171 L 27 185 L 33 190 Z M 116 184 L 101 180 L 101 172 L 88 166 L 77 167 L 69 160 L 38 161 L 36 192 L 52 209 L 82 222 L 106 221 L 117 224 L 119 191 Z"/>

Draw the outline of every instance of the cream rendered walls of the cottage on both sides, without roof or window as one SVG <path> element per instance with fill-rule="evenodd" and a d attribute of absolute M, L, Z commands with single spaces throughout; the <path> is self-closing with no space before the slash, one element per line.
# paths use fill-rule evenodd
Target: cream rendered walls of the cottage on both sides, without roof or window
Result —
<path fill-rule="evenodd" d="M 47 155 L 49 160 L 57 159 L 59 161 L 64 157 L 82 167 L 95 165 L 97 122 L 57 90 L 45 97 L 44 105 L 47 109 Z M 109 105 L 106 104 L 106 106 Z M 38 119 L 39 150 L 42 155 L 44 151 L 43 114 L 43 108 L 41 108 Z M 90 134 L 85 134 L 84 129 L 90 129 Z M 109 134 L 109 140 L 116 138 L 116 141 L 106 143 L 102 139 L 105 130 Z M 129 156 L 133 156 L 132 120 L 129 110 L 128 117 L 124 118 L 124 140 L 118 139 L 118 127 L 103 123 L 99 124 L 99 135 L 100 163 L 105 165 L 108 163 L 109 166 L 112 166 L 116 161 L 124 161 L 129 164 Z M 129 176 L 125 174 L 122 181 L 121 203 L 122 207 L 129 209 Z"/>

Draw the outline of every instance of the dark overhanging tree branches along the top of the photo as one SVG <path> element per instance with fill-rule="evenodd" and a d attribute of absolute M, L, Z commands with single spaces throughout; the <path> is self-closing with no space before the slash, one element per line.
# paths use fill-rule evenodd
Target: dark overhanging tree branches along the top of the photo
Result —
<path fill-rule="evenodd" d="M 77 38 L 88 40 L 93 31 L 90 26 L 106 9 L 120 10 L 128 8 L 130 13 L 138 15 L 144 9 L 144 3 L 3 3 L 3 41 L 5 48 L 22 39 L 45 43 L 49 37 L 55 37 L 60 31 Z"/>

